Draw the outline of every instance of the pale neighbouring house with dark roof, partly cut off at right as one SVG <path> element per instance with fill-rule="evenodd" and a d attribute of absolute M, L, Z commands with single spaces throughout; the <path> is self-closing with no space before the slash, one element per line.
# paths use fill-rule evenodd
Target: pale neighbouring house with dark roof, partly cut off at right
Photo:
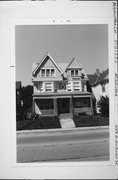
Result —
<path fill-rule="evenodd" d="M 100 100 L 102 96 L 109 97 L 109 70 L 106 69 L 102 73 L 98 70 L 95 74 L 87 75 L 89 78 L 89 84 L 92 87 L 92 92 L 97 102 Z M 97 110 L 99 111 L 99 110 Z"/>

